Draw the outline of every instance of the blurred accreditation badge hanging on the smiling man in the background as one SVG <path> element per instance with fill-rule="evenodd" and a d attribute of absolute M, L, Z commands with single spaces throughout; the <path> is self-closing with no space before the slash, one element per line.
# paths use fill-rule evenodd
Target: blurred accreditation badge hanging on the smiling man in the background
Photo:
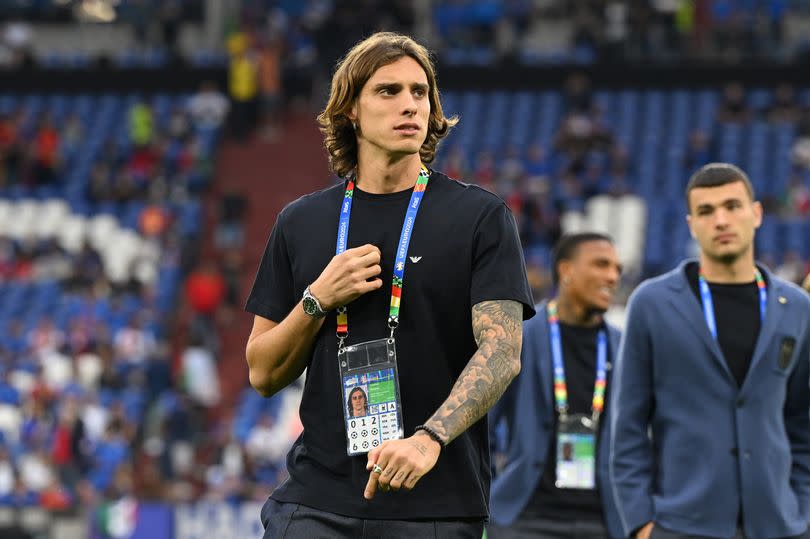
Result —
<path fill-rule="evenodd" d="M 597 422 L 583 414 L 561 415 L 557 430 L 557 488 L 596 487 Z"/>

